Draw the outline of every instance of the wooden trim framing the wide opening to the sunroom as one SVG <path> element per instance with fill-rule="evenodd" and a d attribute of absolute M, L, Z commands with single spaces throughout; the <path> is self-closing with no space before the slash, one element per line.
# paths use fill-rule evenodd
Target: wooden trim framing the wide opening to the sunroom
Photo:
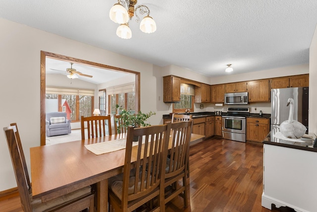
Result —
<path fill-rule="evenodd" d="M 41 145 L 46 144 L 46 127 L 45 127 L 45 118 L 46 118 L 46 112 L 45 112 L 45 89 L 46 89 L 46 58 L 52 58 L 67 62 L 74 62 L 77 64 L 82 65 L 88 65 L 92 67 L 102 68 L 102 69 L 110 69 L 113 71 L 121 71 L 121 72 L 128 72 L 128 73 L 134 73 L 135 74 L 135 108 L 136 112 L 140 111 L 140 72 L 137 71 L 131 71 L 127 69 L 122 69 L 118 67 L 108 66 L 105 64 L 99 64 L 91 61 L 85 61 L 77 58 L 67 57 L 63 55 L 58 55 L 50 52 L 41 51 L 41 91 L 40 91 L 40 131 L 41 131 Z"/>

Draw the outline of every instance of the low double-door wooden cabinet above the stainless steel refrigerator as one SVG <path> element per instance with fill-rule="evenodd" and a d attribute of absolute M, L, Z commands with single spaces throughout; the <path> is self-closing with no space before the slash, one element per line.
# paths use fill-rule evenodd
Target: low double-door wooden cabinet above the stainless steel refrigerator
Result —
<path fill-rule="evenodd" d="M 271 79 L 271 88 L 308 87 L 309 74 L 283 76 Z"/>

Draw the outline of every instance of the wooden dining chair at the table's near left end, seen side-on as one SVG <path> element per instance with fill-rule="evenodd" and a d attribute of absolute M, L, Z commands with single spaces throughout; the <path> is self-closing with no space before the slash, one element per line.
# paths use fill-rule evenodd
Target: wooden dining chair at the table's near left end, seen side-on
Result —
<path fill-rule="evenodd" d="M 24 212 L 80 212 L 88 208 L 90 212 L 95 211 L 95 194 L 91 191 L 90 186 L 44 203 L 40 198 L 33 199 L 32 186 L 16 123 L 10 124 L 10 127 L 3 128 L 3 131 L 8 144 Z"/>

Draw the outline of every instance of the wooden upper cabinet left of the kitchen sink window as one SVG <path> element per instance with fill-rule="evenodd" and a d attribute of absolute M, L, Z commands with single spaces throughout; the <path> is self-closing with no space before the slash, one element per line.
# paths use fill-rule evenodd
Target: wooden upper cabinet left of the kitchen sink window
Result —
<path fill-rule="evenodd" d="M 165 103 L 180 101 L 180 78 L 172 75 L 163 77 L 163 101 Z"/>

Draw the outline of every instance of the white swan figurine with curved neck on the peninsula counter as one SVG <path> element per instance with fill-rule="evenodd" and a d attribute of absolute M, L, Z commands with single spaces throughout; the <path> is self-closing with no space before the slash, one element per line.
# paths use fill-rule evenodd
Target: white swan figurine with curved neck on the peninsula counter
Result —
<path fill-rule="evenodd" d="M 306 127 L 302 123 L 293 119 L 294 99 L 289 98 L 286 106 L 288 105 L 290 105 L 288 120 L 282 122 L 279 126 L 279 130 L 282 135 L 287 138 L 299 139 L 306 133 Z"/>

